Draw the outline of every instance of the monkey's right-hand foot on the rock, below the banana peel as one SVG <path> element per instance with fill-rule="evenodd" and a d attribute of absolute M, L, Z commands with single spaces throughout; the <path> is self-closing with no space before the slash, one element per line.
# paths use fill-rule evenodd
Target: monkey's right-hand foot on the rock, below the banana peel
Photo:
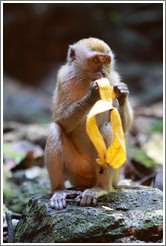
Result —
<path fill-rule="evenodd" d="M 81 207 L 96 206 L 97 199 L 106 194 L 108 194 L 108 192 L 100 187 L 87 189 L 82 193 L 80 206 Z"/>

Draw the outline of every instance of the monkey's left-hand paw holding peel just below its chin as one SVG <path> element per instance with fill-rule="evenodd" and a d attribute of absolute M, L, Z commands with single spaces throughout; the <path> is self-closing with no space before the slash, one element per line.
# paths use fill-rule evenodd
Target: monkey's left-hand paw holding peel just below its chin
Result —
<path fill-rule="evenodd" d="M 90 104 L 94 104 L 97 100 L 100 99 L 99 87 L 95 81 L 92 81 L 90 84 L 90 88 L 87 93 L 87 99 Z"/>

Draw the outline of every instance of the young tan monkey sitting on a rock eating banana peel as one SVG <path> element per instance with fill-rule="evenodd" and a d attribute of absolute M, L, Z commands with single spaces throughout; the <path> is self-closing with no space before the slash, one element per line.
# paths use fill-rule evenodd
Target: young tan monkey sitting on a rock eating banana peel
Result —
<path fill-rule="evenodd" d="M 95 80 L 107 78 L 117 93 L 113 106 L 119 110 L 124 136 L 133 121 L 129 103 L 129 89 L 121 82 L 115 68 L 114 53 L 103 40 L 84 38 L 69 45 L 67 62 L 57 74 L 53 93 L 53 122 L 45 148 L 45 164 L 48 169 L 52 208 L 64 209 L 66 198 L 76 195 L 80 206 L 96 206 L 97 200 L 113 191 L 118 185 L 120 168 L 108 166 L 103 173 L 96 162 L 97 151 L 86 133 L 86 117 L 100 99 Z M 110 112 L 96 116 L 97 125 L 110 146 L 113 132 Z M 83 191 L 68 190 L 64 181 L 73 187 L 85 187 Z"/>

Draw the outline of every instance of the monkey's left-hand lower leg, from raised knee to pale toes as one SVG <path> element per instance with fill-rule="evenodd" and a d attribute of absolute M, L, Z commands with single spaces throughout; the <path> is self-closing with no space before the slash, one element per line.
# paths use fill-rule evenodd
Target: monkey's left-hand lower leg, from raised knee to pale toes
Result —
<path fill-rule="evenodd" d="M 79 195 L 78 191 L 65 190 L 64 187 L 64 148 L 62 143 L 62 131 L 60 126 L 52 123 L 45 149 L 45 163 L 51 181 L 53 196 L 51 206 L 57 209 L 66 207 L 66 197 Z"/>

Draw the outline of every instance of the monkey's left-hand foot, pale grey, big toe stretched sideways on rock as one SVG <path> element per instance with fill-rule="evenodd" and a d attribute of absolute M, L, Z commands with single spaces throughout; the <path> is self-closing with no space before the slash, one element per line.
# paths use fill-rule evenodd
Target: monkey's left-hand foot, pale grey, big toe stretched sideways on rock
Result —
<path fill-rule="evenodd" d="M 64 209 L 66 207 L 66 199 L 77 198 L 81 196 L 81 191 L 75 190 L 57 190 L 50 199 L 50 205 L 55 209 Z"/>

